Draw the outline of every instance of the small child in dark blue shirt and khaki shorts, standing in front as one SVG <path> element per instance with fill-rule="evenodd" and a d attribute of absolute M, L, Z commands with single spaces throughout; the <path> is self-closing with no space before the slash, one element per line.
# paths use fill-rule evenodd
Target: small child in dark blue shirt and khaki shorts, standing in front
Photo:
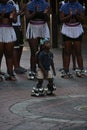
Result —
<path fill-rule="evenodd" d="M 50 51 L 50 42 L 49 42 L 49 39 L 47 38 L 41 40 L 40 42 L 41 42 L 40 51 L 37 56 L 38 83 L 36 87 L 34 87 L 32 90 L 32 95 L 35 95 L 35 96 L 40 96 L 44 94 L 45 90 L 42 88 L 44 79 L 48 80 L 47 95 L 53 94 L 53 91 L 55 90 L 51 68 L 52 68 L 54 76 L 56 75 L 56 72 L 55 72 L 55 67 L 54 67 L 54 62 L 53 62 L 53 53 Z"/>

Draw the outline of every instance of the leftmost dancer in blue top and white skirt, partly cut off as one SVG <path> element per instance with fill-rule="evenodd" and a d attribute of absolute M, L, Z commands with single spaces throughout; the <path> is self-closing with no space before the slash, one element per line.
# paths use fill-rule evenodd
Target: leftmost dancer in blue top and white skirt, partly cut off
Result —
<path fill-rule="evenodd" d="M 12 22 L 16 22 L 16 10 L 8 0 L 0 0 L 0 65 L 4 54 L 6 59 L 7 73 L 9 80 L 16 80 L 13 73 L 13 49 L 16 41 L 16 34 Z"/>

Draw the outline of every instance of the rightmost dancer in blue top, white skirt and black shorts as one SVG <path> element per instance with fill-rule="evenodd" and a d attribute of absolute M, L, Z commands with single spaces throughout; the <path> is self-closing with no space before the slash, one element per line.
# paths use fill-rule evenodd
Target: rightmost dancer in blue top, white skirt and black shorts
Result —
<path fill-rule="evenodd" d="M 79 73 L 78 77 L 84 77 L 83 58 L 81 42 L 83 36 L 82 22 L 84 20 L 83 6 L 77 0 L 69 0 L 60 8 L 60 20 L 62 25 L 62 37 L 64 42 L 64 73 L 63 78 L 71 77 L 69 73 L 70 56 L 72 53 L 72 42 L 77 58 Z"/>

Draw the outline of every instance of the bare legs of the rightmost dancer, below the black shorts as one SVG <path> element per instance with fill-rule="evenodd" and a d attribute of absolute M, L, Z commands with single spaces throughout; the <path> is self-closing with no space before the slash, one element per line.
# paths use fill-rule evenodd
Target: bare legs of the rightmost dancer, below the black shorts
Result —
<path fill-rule="evenodd" d="M 62 51 L 63 68 L 65 73 L 69 73 L 70 60 L 72 55 L 73 69 L 83 70 L 82 47 L 80 41 L 65 41 Z M 78 67 L 77 67 L 78 66 Z"/>

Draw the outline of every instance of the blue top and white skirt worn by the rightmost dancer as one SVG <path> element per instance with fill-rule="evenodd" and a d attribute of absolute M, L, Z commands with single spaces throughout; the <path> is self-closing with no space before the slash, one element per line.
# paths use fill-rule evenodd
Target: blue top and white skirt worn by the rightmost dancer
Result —
<path fill-rule="evenodd" d="M 75 10 L 78 10 L 78 15 L 84 10 L 83 6 L 78 3 L 74 2 L 73 4 L 70 2 L 65 3 L 64 5 L 61 6 L 60 12 L 64 12 L 64 15 L 67 16 L 72 10 L 72 16 L 74 17 L 75 15 Z M 65 22 L 62 25 L 62 30 L 61 33 L 67 37 L 70 38 L 78 38 L 83 34 L 83 27 L 82 24 L 78 21 L 75 22 Z"/>

